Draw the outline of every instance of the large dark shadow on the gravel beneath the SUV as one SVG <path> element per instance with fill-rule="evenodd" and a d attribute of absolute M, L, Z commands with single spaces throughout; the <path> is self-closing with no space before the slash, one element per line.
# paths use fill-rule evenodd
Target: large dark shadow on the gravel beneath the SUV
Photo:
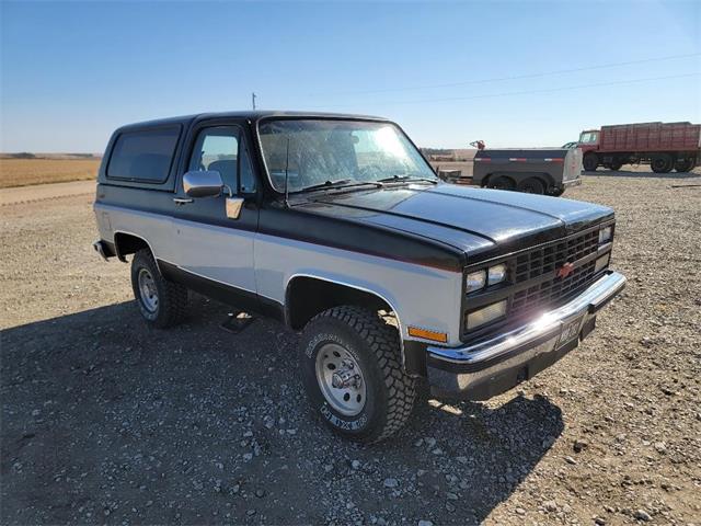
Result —
<path fill-rule="evenodd" d="M 169 331 L 130 302 L 2 331 L 3 524 L 478 524 L 563 431 L 512 395 L 424 399 L 391 441 L 342 441 L 307 409 L 296 334 L 192 304 Z"/>

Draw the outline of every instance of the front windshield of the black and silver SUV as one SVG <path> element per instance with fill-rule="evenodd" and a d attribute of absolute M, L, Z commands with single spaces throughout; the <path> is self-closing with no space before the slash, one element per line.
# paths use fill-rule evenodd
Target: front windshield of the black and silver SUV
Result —
<path fill-rule="evenodd" d="M 434 171 L 397 126 L 332 119 L 266 121 L 258 126 L 275 190 L 299 192 L 332 183 L 430 179 Z"/>

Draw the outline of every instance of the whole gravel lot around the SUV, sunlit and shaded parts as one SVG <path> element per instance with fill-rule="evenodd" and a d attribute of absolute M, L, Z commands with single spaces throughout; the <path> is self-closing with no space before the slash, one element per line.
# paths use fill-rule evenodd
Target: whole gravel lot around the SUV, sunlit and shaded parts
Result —
<path fill-rule="evenodd" d="M 680 185 L 683 187 L 674 187 Z M 697 185 L 697 186 L 692 186 Z M 0 207 L 2 524 L 701 522 L 701 174 L 588 175 L 630 279 L 562 362 L 392 442 L 309 414 L 295 334 L 194 298 L 149 330 L 89 195 Z"/>

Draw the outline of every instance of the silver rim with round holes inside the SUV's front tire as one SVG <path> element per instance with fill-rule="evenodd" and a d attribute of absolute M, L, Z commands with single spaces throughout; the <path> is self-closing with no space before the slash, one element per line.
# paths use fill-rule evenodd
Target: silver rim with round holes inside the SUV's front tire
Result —
<path fill-rule="evenodd" d="M 317 354 L 317 381 L 324 399 L 346 416 L 355 416 L 365 408 L 365 377 L 353 355 L 335 343 L 324 344 Z"/>

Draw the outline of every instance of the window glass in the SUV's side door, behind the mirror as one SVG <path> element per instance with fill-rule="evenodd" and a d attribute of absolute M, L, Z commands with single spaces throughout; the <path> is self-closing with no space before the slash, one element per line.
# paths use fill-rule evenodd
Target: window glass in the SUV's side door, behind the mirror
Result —
<path fill-rule="evenodd" d="M 223 184 L 235 194 L 255 190 L 255 176 L 246 149 L 235 126 L 217 126 L 203 129 L 197 136 L 189 159 L 188 170 L 219 172 Z"/>

